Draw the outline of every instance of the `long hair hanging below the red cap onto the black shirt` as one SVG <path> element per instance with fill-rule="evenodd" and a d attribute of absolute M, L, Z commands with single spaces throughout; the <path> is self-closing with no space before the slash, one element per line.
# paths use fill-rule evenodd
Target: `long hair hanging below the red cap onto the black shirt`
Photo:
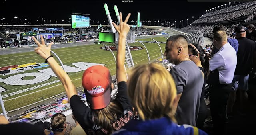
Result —
<path fill-rule="evenodd" d="M 116 100 L 110 101 L 106 108 L 92 111 L 94 123 L 108 131 L 108 133 L 114 131 L 113 123 L 116 122 L 124 112 L 121 104 Z"/>

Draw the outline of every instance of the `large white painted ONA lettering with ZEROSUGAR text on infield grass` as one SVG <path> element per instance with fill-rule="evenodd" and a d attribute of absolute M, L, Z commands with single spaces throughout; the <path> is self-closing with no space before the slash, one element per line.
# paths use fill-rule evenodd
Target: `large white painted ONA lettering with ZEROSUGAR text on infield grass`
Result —
<path fill-rule="evenodd" d="M 42 88 L 44 86 L 48 86 L 48 85 L 52 85 L 55 83 L 60 82 L 60 80 L 50 80 L 50 78 L 56 77 L 57 76 L 54 74 L 54 72 L 52 71 L 51 68 L 46 68 L 46 69 L 42 69 L 42 70 L 37 70 L 36 72 L 29 72 L 29 73 L 22 73 L 22 74 L 17 74 L 19 73 L 19 71 L 22 70 L 33 70 L 38 68 L 39 66 L 33 66 L 33 65 L 40 65 L 42 67 L 46 67 L 48 66 L 48 64 L 44 64 L 44 63 L 32 63 L 33 65 L 31 66 L 31 63 L 25 64 L 25 66 L 20 65 L 20 66 L 16 66 L 15 68 L 12 66 L 6 66 L 6 67 L 10 67 L 10 68 L 3 68 L 4 70 L 0 71 L 6 71 L 5 74 L 2 74 L 3 76 L 6 74 L 14 74 L 12 76 L 9 76 L 7 78 L 2 78 L 0 76 L 0 92 L 2 93 L 2 98 L 6 98 L 9 96 L 14 96 L 16 94 L 20 94 L 20 93 L 24 93 L 24 92 L 28 92 L 30 90 L 35 90 L 38 88 Z M 87 62 L 77 62 L 77 63 L 72 63 L 72 65 L 74 65 L 75 67 L 71 67 L 71 66 L 67 66 L 64 65 L 64 70 L 66 72 L 80 72 L 80 71 L 84 71 L 87 68 L 93 66 L 93 65 L 103 65 L 103 64 L 97 64 L 97 63 L 87 63 Z M 17 71 L 18 70 L 18 71 Z M 24 71 L 23 71 L 24 72 Z M 26 80 L 24 79 L 25 77 L 30 77 L 32 79 Z M 35 84 L 35 85 L 33 85 Z M 6 88 L 4 88 L 6 85 L 10 85 L 10 86 L 22 86 L 22 88 L 18 88 L 15 91 L 10 91 L 8 93 L 9 90 L 7 90 Z M 24 87 L 24 86 L 28 86 L 28 87 Z"/>

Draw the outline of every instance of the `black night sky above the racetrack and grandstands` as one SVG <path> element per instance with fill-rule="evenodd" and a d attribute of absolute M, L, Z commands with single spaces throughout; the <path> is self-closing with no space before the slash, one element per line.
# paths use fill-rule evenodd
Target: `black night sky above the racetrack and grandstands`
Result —
<path fill-rule="evenodd" d="M 37 24 L 36 20 L 39 20 L 39 24 L 42 24 L 41 17 L 44 17 L 46 24 L 58 24 L 62 23 L 62 20 L 68 22 L 71 18 L 71 13 L 85 13 L 90 14 L 90 19 L 94 20 L 94 24 L 97 21 L 104 24 L 104 20 L 107 22 L 106 12 L 104 10 L 104 3 L 108 4 L 110 15 L 112 20 L 117 20 L 114 12 L 114 5 L 118 7 L 119 12 L 122 12 L 123 16 L 131 13 L 131 20 L 137 20 L 137 12 L 140 12 L 140 21 L 151 20 L 152 22 L 159 20 L 170 21 L 176 25 L 180 20 L 184 20 L 186 25 L 186 19 L 188 18 L 188 24 L 192 22 L 192 16 L 194 20 L 202 16 L 205 10 L 215 8 L 216 6 L 224 5 L 228 2 L 188 2 L 186 0 L 130 0 L 132 2 L 123 2 L 124 0 L 1 0 L 0 3 L 0 18 L 5 18 L 3 23 L 16 23 L 14 16 L 17 16 L 17 21 L 20 23 L 20 19 L 24 23 L 25 18 L 31 20 L 30 23 Z M 1 22 L 2 23 L 2 22 Z M 70 21 L 71 23 L 71 21 Z M 106 23 L 105 23 L 106 24 Z M 153 23 L 152 23 L 153 25 Z"/>

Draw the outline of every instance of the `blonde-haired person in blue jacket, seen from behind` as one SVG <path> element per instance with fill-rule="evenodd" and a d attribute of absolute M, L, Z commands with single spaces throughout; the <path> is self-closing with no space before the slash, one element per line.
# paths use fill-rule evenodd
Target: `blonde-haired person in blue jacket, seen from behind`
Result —
<path fill-rule="evenodd" d="M 122 48 L 125 51 L 124 44 Z M 133 119 L 113 135 L 206 135 L 196 127 L 176 124 L 176 86 L 162 65 L 150 63 L 135 67 L 127 84 L 128 96 L 140 120 Z"/>

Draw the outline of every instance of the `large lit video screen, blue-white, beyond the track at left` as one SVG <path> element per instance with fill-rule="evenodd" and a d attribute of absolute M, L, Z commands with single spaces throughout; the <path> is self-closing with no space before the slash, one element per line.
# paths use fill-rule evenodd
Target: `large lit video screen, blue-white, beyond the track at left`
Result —
<path fill-rule="evenodd" d="M 71 15 L 72 28 L 89 27 L 90 18 L 85 15 Z"/>

